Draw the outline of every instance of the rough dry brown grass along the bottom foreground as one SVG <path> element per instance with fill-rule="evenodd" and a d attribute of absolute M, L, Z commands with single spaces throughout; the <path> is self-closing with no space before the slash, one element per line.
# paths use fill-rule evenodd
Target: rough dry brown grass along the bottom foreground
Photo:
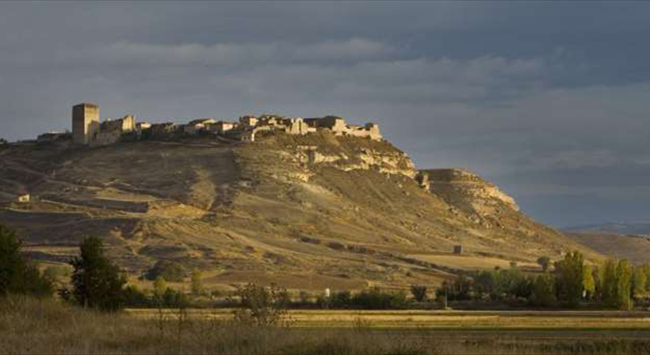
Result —
<path fill-rule="evenodd" d="M 0 301 L 0 354 L 648 354 L 648 330 L 635 332 L 377 329 L 363 317 L 350 328 L 259 328 L 161 313 L 141 319 L 55 301 Z"/>

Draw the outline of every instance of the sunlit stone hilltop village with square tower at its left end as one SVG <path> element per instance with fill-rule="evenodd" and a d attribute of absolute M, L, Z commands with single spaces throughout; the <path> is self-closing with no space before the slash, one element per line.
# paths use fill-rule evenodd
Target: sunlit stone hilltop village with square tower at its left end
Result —
<path fill-rule="evenodd" d="M 381 140 L 379 126 L 368 123 L 365 126 L 348 124 L 344 118 L 326 116 L 322 118 L 287 118 L 278 115 L 242 116 L 238 121 L 223 121 L 215 118 L 195 119 L 187 124 L 173 122 L 136 122 L 133 115 L 100 122 L 99 106 L 81 103 L 72 108 L 72 134 L 51 132 L 42 134 L 38 141 L 58 141 L 72 138 L 73 142 L 88 146 L 110 145 L 122 139 L 169 140 L 183 136 L 212 135 L 239 140 L 255 141 L 260 132 L 281 131 L 287 134 L 305 135 L 319 129 L 330 130 L 336 136 L 352 136 Z"/>

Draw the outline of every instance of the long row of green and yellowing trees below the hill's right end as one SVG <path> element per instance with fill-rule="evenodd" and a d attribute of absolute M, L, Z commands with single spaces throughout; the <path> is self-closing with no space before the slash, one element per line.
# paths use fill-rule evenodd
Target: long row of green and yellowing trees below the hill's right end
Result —
<path fill-rule="evenodd" d="M 540 262 L 545 264 L 545 261 Z M 627 260 L 587 265 L 579 252 L 555 262 L 553 272 L 528 275 L 516 267 L 460 275 L 436 290 L 438 299 L 536 307 L 630 310 L 650 292 L 650 265 L 633 268 Z M 548 267 L 547 267 L 548 269 Z M 636 280 L 636 281 L 635 281 Z"/>

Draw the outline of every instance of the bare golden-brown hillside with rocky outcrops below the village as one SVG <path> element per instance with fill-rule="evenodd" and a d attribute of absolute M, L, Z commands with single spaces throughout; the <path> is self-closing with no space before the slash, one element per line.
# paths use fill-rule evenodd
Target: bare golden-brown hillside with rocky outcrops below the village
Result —
<path fill-rule="evenodd" d="M 0 159 L 0 223 L 52 261 L 92 234 L 133 273 L 169 259 L 215 284 L 353 289 L 437 284 L 510 261 L 534 267 L 570 249 L 600 257 L 474 174 L 428 171 L 428 191 L 390 143 L 327 131 L 255 143 L 11 145 Z M 10 202 L 23 193 L 32 202 Z"/>

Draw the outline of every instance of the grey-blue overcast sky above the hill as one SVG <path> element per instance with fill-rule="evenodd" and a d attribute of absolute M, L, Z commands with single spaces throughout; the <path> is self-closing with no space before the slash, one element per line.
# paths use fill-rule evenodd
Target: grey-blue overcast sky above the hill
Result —
<path fill-rule="evenodd" d="M 542 222 L 649 220 L 648 2 L 2 2 L 0 137 L 71 106 L 374 121 Z"/>

